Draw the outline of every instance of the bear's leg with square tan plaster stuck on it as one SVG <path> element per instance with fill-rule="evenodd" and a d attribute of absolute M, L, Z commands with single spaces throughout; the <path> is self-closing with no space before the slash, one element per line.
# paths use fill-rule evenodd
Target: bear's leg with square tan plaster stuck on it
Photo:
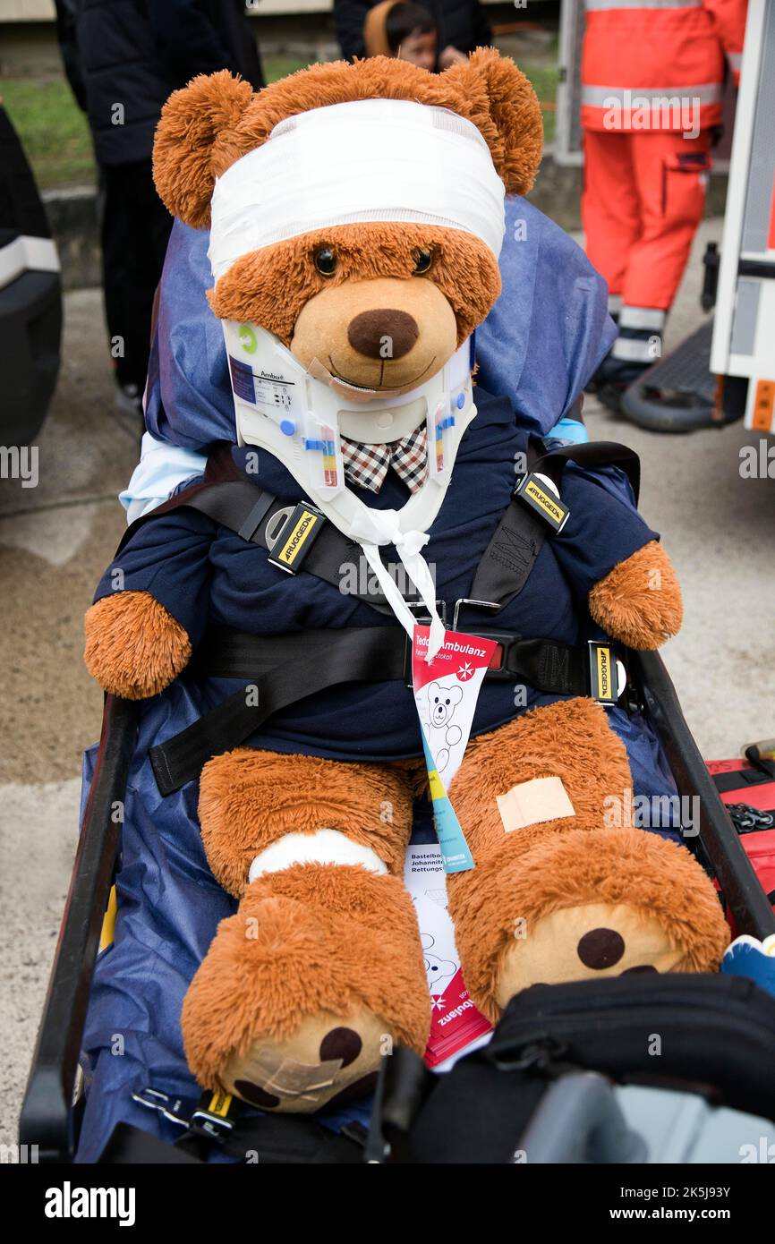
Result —
<path fill-rule="evenodd" d="M 535 778 L 560 778 L 573 815 L 508 831 L 496 796 Z M 693 856 L 607 825 L 607 799 L 628 789 L 624 746 L 590 700 L 469 745 L 450 797 L 476 867 L 449 878 L 449 906 L 465 983 L 490 1019 L 531 984 L 718 968 L 729 931 Z"/>

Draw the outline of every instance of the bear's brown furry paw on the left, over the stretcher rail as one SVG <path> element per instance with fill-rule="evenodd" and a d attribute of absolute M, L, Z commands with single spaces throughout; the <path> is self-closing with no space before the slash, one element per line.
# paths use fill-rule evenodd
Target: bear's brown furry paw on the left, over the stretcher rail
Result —
<path fill-rule="evenodd" d="M 87 610 L 85 622 L 86 668 L 113 695 L 158 695 L 190 659 L 185 629 L 149 592 L 103 596 Z"/>

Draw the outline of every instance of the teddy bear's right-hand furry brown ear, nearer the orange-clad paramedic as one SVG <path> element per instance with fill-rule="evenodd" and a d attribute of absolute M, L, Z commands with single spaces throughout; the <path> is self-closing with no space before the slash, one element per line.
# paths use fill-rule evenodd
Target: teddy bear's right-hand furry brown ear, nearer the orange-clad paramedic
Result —
<path fill-rule="evenodd" d="M 454 65 L 440 77 L 465 100 L 463 114 L 486 139 L 506 193 L 527 194 L 544 146 L 541 108 L 530 81 L 494 47 L 478 47 L 466 65 Z"/>

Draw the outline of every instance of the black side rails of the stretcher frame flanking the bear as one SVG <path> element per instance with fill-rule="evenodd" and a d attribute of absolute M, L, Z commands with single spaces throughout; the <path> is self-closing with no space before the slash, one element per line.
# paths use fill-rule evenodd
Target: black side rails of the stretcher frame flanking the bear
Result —
<path fill-rule="evenodd" d="M 662 658 L 633 652 L 629 669 L 678 794 L 700 801 L 699 835 L 687 838 L 687 846 L 718 878 L 738 931 L 769 937 L 775 933 L 775 914 L 703 763 Z M 20 1144 L 37 1146 L 41 1163 L 70 1163 L 77 1147 L 81 1041 L 119 850 L 116 806 L 124 797 L 139 712 L 136 702 L 106 697 L 95 774 L 20 1115 Z"/>

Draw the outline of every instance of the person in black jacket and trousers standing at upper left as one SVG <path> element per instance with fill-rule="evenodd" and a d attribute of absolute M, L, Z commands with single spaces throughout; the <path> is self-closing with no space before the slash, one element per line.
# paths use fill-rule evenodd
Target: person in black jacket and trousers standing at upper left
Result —
<path fill-rule="evenodd" d="M 116 401 L 121 411 L 134 413 L 141 411 L 153 297 L 172 226 L 151 165 L 162 106 L 197 73 L 231 70 L 255 90 L 264 76 L 244 0 L 75 0 L 75 7 L 77 73 L 102 192 Z"/>

